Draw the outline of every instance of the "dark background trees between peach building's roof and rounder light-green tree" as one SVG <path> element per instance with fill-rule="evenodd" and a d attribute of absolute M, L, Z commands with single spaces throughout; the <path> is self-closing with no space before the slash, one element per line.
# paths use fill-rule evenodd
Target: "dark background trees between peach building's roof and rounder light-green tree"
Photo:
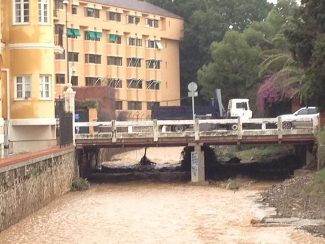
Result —
<path fill-rule="evenodd" d="M 231 27 L 243 32 L 253 21 L 266 18 L 272 5 L 267 0 L 147 0 L 181 16 L 185 21 L 181 42 L 181 94 L 197 81 L 198 70 L 211 60 L 210 45 L 220 42 Z"/>

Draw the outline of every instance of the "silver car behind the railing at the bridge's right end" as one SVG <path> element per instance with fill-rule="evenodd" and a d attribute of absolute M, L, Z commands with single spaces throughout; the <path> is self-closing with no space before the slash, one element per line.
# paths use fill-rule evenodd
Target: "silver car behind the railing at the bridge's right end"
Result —
<path fill-rule="evenodd" d="M 295 119 L 295 118 L 314 118 L 317 117 L 319 113 L 317 112 L 316 107 L 304 107 L 294 112 L 293 114 L 284 114 L 282 117 L 282 128 L 283 130 L 290 130 L 295 127 L 312 127 L 313 121 L 285 121 L 286 118 Z"/>

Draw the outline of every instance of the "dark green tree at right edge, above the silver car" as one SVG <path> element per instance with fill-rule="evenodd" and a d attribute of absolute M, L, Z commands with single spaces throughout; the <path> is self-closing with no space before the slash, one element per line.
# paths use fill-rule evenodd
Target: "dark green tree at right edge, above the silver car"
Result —
<path fill-rule="evenodd" d="M 293 26 L 285 32 L 293 57 L 304 70 L 301 95 L 325 111 L 325 2 L 302 0 Z"/>

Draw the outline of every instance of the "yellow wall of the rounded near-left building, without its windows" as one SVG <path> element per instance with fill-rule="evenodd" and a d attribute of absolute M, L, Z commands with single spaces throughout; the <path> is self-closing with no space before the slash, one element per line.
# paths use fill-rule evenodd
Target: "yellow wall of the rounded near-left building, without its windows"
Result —
<path fill-rule="evenodd" d="M 29 1 L 29 23 L 13 24 L 12 1 L 3 1 L 2 42 L 6 44 L 3 53 L 4 69 L 10 73 L 10 92 L 6 80 L 2 80 L 3 95 L 10 96 L 10 118 L 53 118 L 54 117 L 54 36 L 53 2 L 50 2 L 49 24 L 39 24 L 38 1 Z M 31 45 L 32 44 L 32 45 Z M 31 76 L 31 99 L 15 100 L 15 76 Z M 40 75 L 51 77 L 51 95 L 48 101 L 40 100 Z M 6 99 L 3 97 L 3 99 Z M 3 110 L 7 102 L 3 101 Z M 4 117 L 7 118 L 7 113 Z"/>

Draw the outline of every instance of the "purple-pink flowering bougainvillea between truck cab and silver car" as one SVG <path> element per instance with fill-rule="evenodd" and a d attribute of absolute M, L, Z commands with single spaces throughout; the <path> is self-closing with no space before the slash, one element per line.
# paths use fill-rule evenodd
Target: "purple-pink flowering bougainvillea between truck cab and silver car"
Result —
<path fill-rule="evenodd" d="M 256 107 L 259 115 L 266 115 L 267 108 L 284 99 L 292 99 L 296 90 L 286 85 L 288 75 L 276 73 L 265 78 L 264 83 L 258 87 Z"/>

